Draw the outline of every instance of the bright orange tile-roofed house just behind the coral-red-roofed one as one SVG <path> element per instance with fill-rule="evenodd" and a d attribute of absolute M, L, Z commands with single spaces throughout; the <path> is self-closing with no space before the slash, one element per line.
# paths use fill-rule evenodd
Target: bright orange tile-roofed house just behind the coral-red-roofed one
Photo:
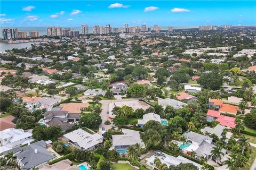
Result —
<path fill-rule="evenodd" d="M 237 106 L 224 104 L 223 101 L 219 99 L 210 99 L 208 107 L 217 108 L 220 113 L 237 114 L 237 111 L 240 111 Z"/>

